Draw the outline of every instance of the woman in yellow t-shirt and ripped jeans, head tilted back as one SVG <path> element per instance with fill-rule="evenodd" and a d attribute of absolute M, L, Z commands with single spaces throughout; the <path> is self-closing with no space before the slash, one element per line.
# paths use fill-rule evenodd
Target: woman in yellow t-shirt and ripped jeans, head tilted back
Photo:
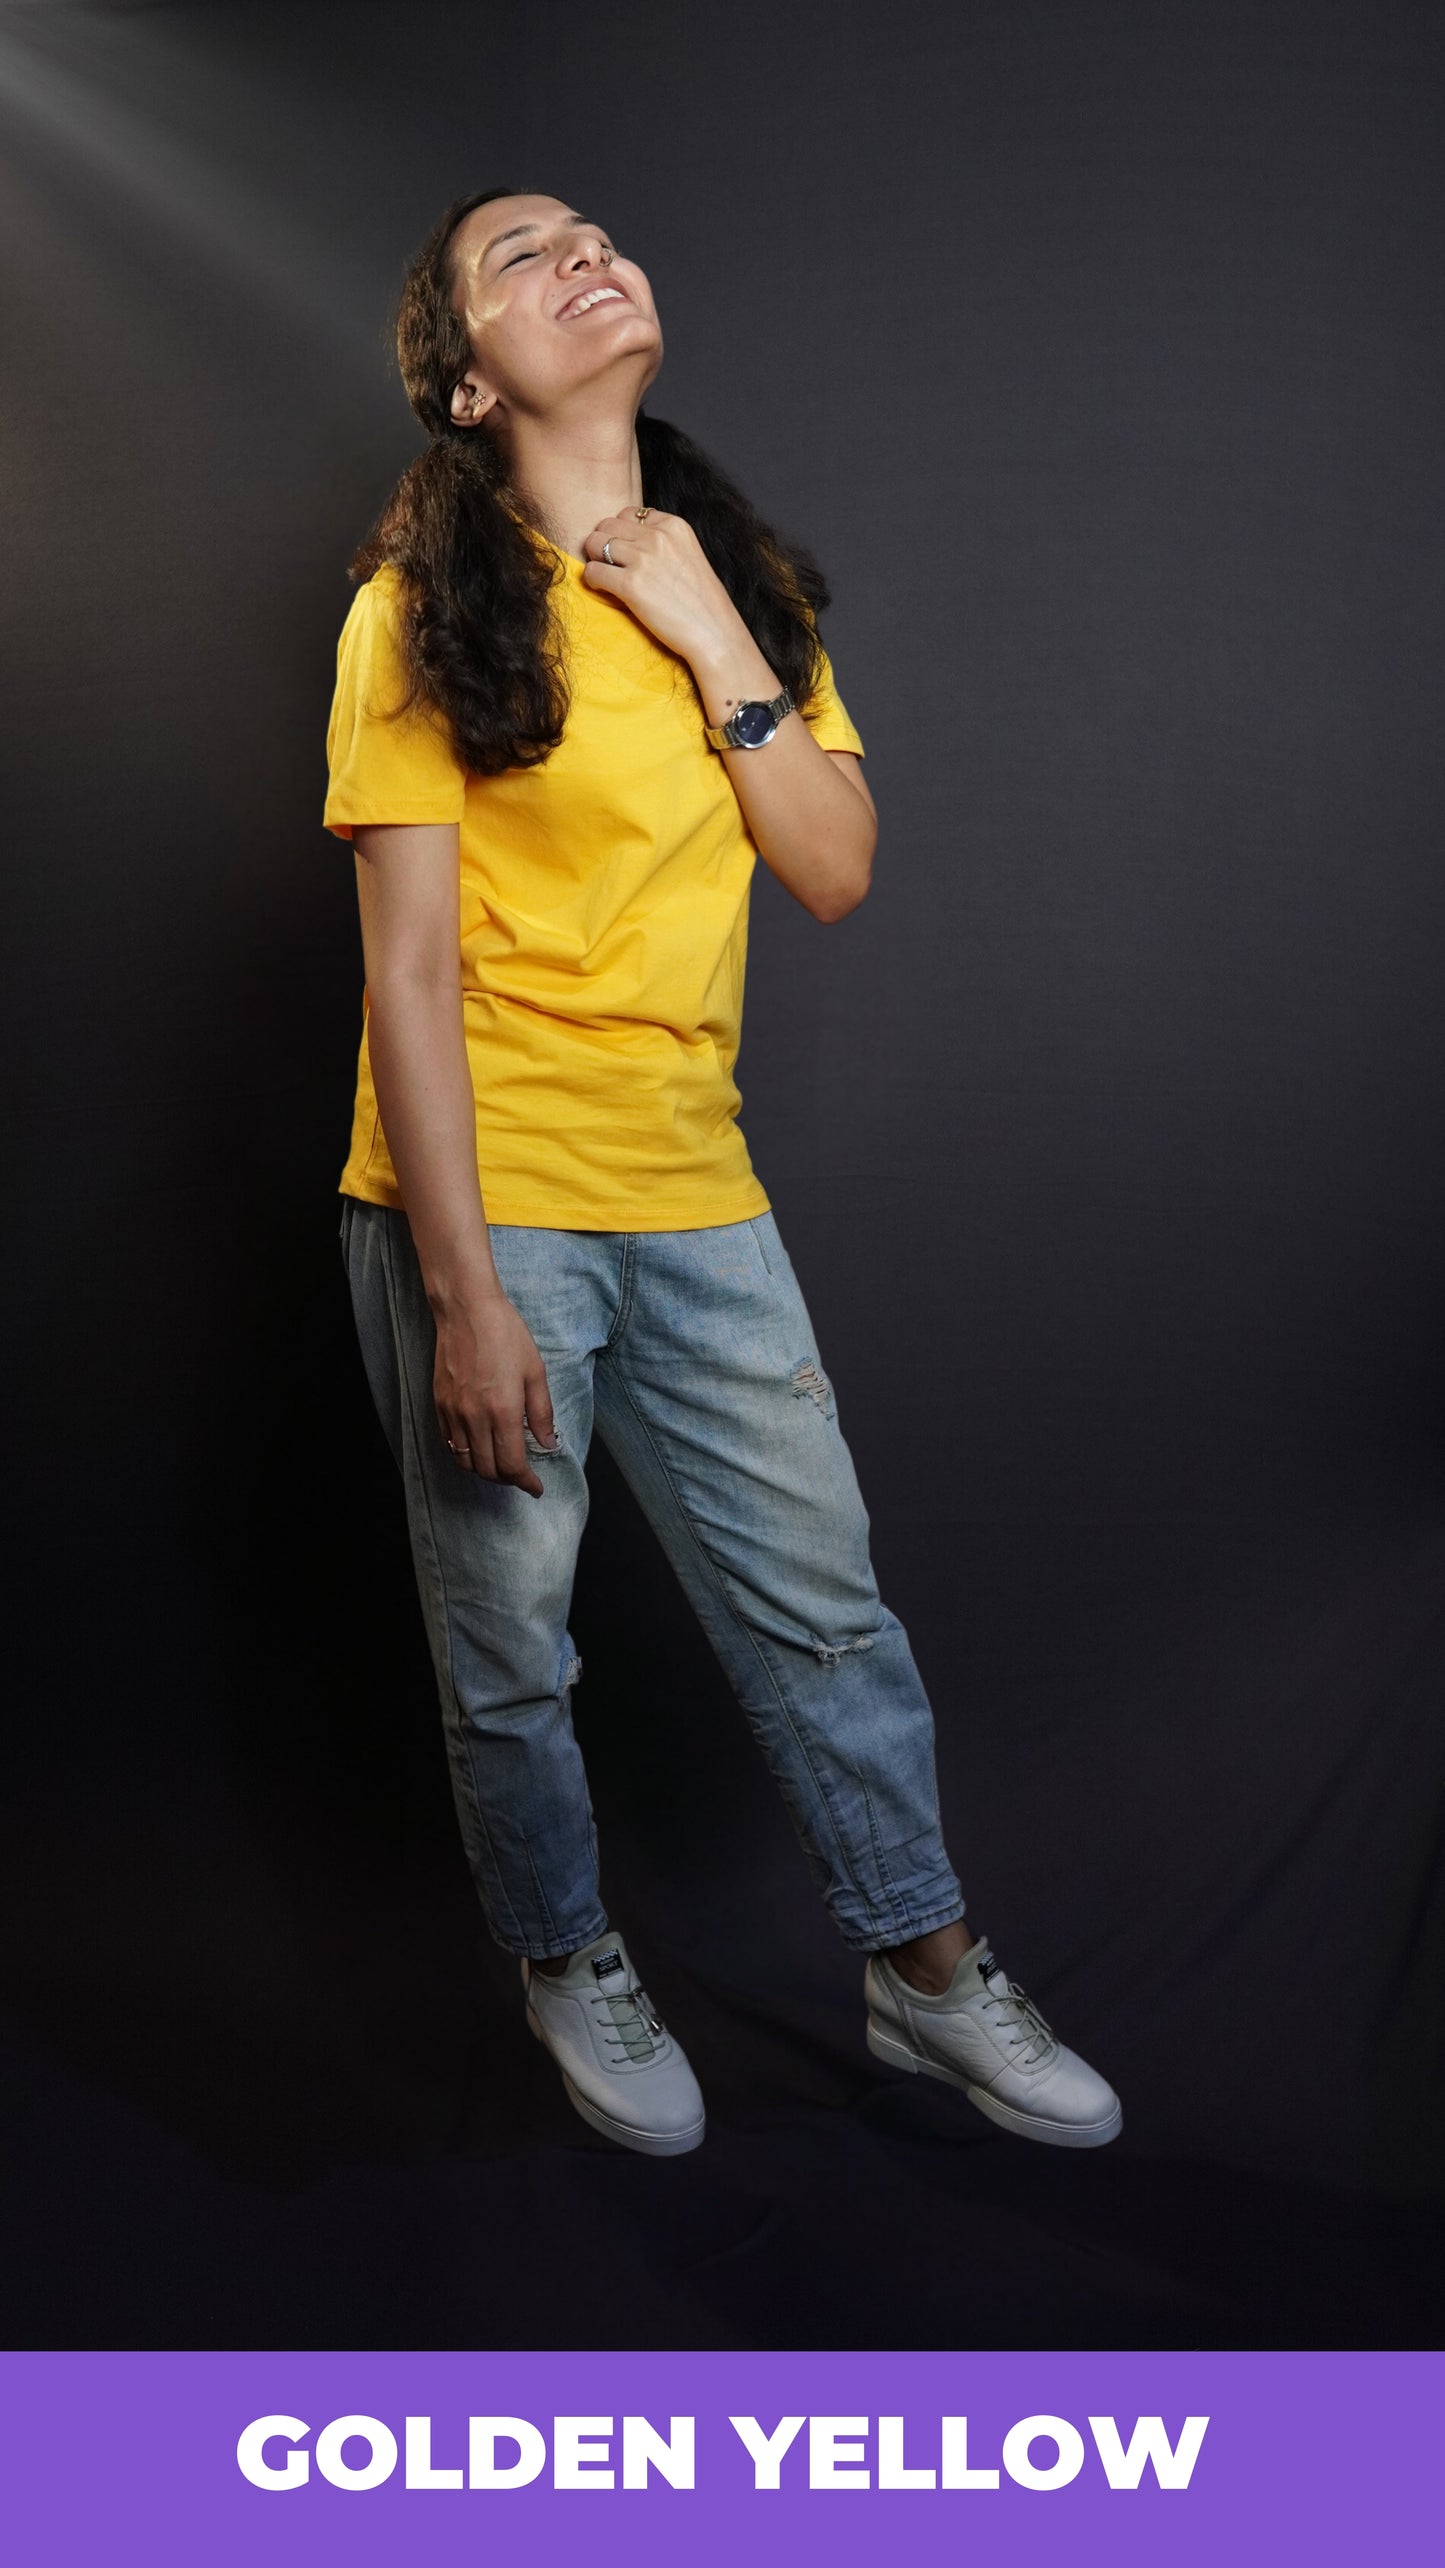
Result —
<path fill-rule="evenodd" d="M 490 1931 L 577 2113 L 693 2149 L 567 1710 L 595 1423 L 870 1957 L 873 2052 L 1093 2147 L 1111 2088 L 962 1923 L 929 1703 L 737 1125 L 755 858 L 816 919 L 873 863 L 824 583 L 642 413 L 647 277 L 557 198 L 449 205 L 398 357 L 429 447 L 352 565 L 329 734 L 367 971 L 341 1245 Z"/>

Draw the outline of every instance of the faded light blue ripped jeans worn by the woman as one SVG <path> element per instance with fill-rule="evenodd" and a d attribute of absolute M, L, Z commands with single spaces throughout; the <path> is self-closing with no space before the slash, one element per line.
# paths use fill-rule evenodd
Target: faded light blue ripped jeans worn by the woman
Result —
<path fill-rule="evenodd" d="M 726 1669 L 844 1941 L 906 1944 L 960 1918 L 929 1697 L 878 1597 L 852 1459 L 773 1215 L 642 1233 L 493 1225 L 557 1418 L 557 1453 L 529 1436 L 539 1500 L 447 1451 L 406 1212 L 344 1197 L 341 1253 L 495 1941 L 547 1959 L 608 1923 L 567 1708 L 593 1420 Z"/>

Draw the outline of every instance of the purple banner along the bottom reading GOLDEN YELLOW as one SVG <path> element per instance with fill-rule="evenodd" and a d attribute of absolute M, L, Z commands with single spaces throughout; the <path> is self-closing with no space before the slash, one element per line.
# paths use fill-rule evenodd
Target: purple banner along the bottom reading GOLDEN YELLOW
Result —
<path fill-rule="evenodd" d="M 1427 2558 L 1445 2357 L 5 2355 L 8 2555 L 770 2568 Z"/>

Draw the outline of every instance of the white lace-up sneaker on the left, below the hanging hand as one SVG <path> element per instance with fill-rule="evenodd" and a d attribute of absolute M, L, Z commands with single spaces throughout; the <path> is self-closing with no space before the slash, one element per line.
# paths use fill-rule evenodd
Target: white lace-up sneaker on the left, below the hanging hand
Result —
<path fill-rule="evenodd" d="M 698 2147 L 706 2129 L 698 2080 L 611 1926 L 570 1954 L 567 1970 L 524 1962 L 521 1985 L 526 2021 L 593 2131 L 647 2157 L 680 2157 Z"/>

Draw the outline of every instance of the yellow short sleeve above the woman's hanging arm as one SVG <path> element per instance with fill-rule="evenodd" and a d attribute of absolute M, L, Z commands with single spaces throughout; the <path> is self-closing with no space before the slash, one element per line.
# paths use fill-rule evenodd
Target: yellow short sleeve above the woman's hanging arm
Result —
<path fill-rule="evenodd" d="M 398 714 L 403 696 L 400 591 L 382 568 L 357 588 L 336 645 L 321 814 L 334 837 L 367 822 L 462 819 L 467 768 L 452 732 L 429 706 Z"/>

